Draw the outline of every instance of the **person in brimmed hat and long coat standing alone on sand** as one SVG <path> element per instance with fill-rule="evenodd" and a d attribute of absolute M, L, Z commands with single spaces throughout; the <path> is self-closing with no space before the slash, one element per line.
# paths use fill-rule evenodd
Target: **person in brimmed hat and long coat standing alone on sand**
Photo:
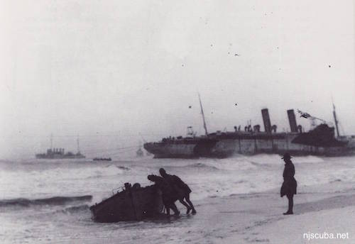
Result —
<path fill-rule="evenodd" d="M 297 194 L 297 181 L 295 179 L 295 165 L 291 161 L 290 153 L 285 153 L 282 157 L 285 162 L 285 170 L 283 170 L 283 185 L 281 187 L 281 197 L 288 198 L 288 211 L 284 215 L 293 214 L 293 195 Z"/>

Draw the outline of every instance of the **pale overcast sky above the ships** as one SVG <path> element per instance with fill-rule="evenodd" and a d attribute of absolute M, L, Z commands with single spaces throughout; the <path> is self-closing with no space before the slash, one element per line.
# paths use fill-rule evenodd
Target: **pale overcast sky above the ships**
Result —
<path fill-rule="evenodd" d="M 355 134 L 351 0 L 1 1 L 0 35 L 0 158 L 201 134 L 197 91 L 209 131 L 333 121 L 333 97 Z"/>

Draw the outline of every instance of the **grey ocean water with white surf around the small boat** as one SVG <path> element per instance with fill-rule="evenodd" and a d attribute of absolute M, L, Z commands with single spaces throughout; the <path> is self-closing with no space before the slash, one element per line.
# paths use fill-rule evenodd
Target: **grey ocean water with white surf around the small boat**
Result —
<path fill-rule="evenodd" d="M 355 182 L 355 157 L 294 157 L 293 163 L 299 186 Z M 210 198 L 277 193 L 283 164 L 279 155 L 0 161 L 0 243 L 179 243 L 178 236 L 166 233 L 180 233 L 177 230 L 187 228 L 193 216 L 166 222 L 95 223 L 89 206 L 125 182 L 151 184 L 148 174 L 158 174 L 164 167 L 189 184 L 198 211 L 199 204 Z M 183 210 L 181 204 L 178 208 Z"/>

